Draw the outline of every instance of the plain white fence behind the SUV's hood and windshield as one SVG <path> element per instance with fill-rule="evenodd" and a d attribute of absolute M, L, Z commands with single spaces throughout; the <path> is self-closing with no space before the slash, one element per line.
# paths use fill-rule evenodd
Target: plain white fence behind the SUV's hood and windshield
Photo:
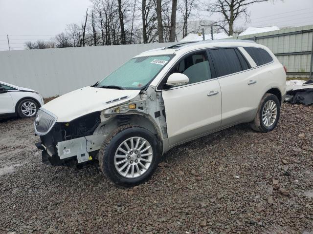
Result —
<path fill-rule="evenodd" d="M 94 84 L 135 55 L 173 43 L 0 52 L 0 81 L 31 88 L 45 98 Z"/>

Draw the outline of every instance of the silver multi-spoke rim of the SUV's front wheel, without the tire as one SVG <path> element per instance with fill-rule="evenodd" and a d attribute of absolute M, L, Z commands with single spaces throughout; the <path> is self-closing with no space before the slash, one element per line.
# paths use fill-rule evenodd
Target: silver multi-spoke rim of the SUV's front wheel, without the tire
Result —
<path fill-rule="evenodd" d="M 126 178 L 142 176 L 151 166 L 153 150 L 142 137 L 124 140 L 117 148 L 114 164 L 117 172 Z"/>

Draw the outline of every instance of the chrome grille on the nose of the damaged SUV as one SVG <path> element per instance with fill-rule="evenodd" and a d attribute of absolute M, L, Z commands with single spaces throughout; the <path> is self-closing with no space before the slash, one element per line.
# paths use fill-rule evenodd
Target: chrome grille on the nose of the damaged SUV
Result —
<path fill-rule="evenodd" d="M 35 133 L 38 135 L 47 134 L 51 130 L 56 121 L 57 118 L 52 113 L 47 113 L 46 111 L 40 109 L 37 112 L 34 122 Z"/>

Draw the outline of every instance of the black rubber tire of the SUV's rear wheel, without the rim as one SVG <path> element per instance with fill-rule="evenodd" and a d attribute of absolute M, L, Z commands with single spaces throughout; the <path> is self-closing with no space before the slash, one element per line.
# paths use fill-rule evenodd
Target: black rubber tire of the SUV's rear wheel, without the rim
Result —
<path fill-rule="evenodd" d="M 262 111 L 263 108 L 265 106 L 265 104 L 269 101 L 272 100 L 275 102 L 276 107 L 277 107 L 277 114 L 276 114 L 276 119 L 274 120 L 273 124 L 271 126 L 266 126 L 263 121 L 262 121 Z M 258 108 L 258 112 L 254 118 L 254 120 L 250 123 L 250 126 L 253 130 L 261 132 L 261 133 L 267 133 L 269 131 L 272 131 L 279 120 L 279 116 L 280 116 L 280 102 L 279 99 L 273 95 L 273 94 L 265 94 L 260 102 L 259 108 Z"/>

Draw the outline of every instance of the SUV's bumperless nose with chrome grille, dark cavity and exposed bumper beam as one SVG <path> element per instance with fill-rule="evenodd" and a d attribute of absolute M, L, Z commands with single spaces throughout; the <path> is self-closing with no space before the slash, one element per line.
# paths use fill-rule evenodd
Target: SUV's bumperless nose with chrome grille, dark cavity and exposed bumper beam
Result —
<path fill-rule="evenodd" d="M 100 114 L 99 111 L 70 122 L 56 122 L 56 116 L 40 109 L 34 124 L 41 140 L 36 146 L 42 150 L 43 162 L 60 166 L 92 160 L 97 150 L 92 148 L 90 135 L 100 124 Z"/>

